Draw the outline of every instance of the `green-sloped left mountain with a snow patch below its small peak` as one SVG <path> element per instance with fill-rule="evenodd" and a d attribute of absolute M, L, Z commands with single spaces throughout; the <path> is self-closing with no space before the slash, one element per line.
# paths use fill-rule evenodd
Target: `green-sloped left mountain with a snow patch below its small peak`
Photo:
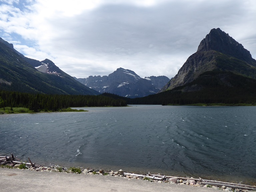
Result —
<path fill-rule="evenodd" d="M 34 66 L 30 63 L 34 63 Z M 46 69 L 40 72 L 35 66 L 42 66 L 41 68 L 44 66 Z M 49 73 L 44 73 L 46 71 Z M 24 57 L 13 48 L 12 44 L 2 38 L 0 38 L 0 89 L 46 94 L 99 94 L 74 80 L 48 59 L 40 62 Z"/>

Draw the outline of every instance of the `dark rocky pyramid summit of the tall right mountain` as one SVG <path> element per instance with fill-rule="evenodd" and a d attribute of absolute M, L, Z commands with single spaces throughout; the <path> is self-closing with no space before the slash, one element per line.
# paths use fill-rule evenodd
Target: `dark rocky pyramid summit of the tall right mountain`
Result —
<path fill-rule="evenodd" d="M 244 61 L 254 60 L 250 51 L 246 50 L 242 44 L 238 43 L 220 28 L 211 29 L 210 33 L 200 42 L 197 52 L 210 50 L 218 51 Z"/>

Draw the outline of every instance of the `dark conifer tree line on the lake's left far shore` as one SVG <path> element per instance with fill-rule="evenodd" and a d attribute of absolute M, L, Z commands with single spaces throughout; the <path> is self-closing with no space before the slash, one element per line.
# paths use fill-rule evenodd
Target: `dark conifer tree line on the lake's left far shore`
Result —
<path fill-rule="evenodd" d="M 113 97 L 115 97 L 113 95 Z M 59 111 L 68 107 L 126 106 L 126 101 L 109 95 L 48 95 L 0 90 L 0 108 L 25 107 L 29 110 Z"/>

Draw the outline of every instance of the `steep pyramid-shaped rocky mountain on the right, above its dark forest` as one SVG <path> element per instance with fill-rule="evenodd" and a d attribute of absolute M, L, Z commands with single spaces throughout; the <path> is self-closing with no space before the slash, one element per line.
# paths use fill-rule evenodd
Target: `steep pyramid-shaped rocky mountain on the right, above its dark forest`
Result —
<path fill-rule="evenodd" d="M 199 85 L 205 82 L 199 82 L 198 78 L 203 79 L 206 72 L 206 75 L 210 75 L 209 71 L 214 71 L 214 78 L 219 84 L 235 87 L 234 82 L 230 81 L 233 74 L 256 79 L 256 60 L 229 34 L 220 28 L 212 29 L 200 42 L 197 52 L 187 59 L 177 75 L 160 92 L 179 86 L 183 86 L 182 90 L 185 92 L 201 90 L 207 86 Z M 195 80 L 197 84 L 191 84 Z"/>

